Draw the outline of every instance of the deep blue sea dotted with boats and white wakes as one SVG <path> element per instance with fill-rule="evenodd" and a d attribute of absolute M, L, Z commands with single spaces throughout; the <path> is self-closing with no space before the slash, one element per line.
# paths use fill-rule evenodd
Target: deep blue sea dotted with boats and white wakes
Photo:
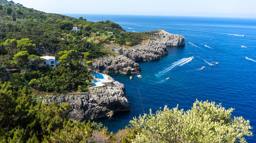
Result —
<path fill-rule="evenodd" d="M 148 113 L 150 108 L 156 111 L 164 105 L 172 108 L 177 104 L 187 110 L 193 106 L 196 99 L 221 102 L 226 108 L 235 108 L 233 116 L 250 120 L 253 134 L 256 135 L 256 62 L 245 59 L 248 57 L 256 60 L 256 19 L 67 15 L 83 16 L 90 21 L 111 20 L 119 23 L 127 32 L 165 29 L 169 33 L 183 35 L 186 43 L 184 47 L 168 48 L 168 55 L 160 61 L 139 63 L 142 78 L 134 76 L 133 81 L 139 85 L 145 113 Z M 247 48 L 241 47 L 242 45 Z M 195 58 L 183 66 L 163 71 L 174 62 L 190 56 Z M 219 65 L 211 67 L 204 60 L 219 62 Z M 199 70 L 202 66 L 206 68 Z M 116 132 L 128 125 L 134 116 L 142 114 L 143 110 L 137 87 L 130 81 L 130 75 L 111 76 L 125 85 L 131 106 L 131 112 L 101 120 L 111 131 Z M 166 77 L 170 79 L 164 80 Z M 256 137 L 250 138 L 248 142 L 256 142 Z"/>

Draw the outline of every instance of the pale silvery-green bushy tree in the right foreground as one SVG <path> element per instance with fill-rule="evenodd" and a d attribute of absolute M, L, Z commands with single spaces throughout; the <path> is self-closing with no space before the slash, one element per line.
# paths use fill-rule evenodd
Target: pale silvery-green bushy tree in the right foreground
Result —
<path fill-rule="evenodd" d="M 133 142 L 246 142 L 252 136 L 249 121 L 231 118 L 233 108 L 215 102 L 196 101 L 190 110 L 176 108 L 150 111 L 130 121 L 139 133 Z"/>

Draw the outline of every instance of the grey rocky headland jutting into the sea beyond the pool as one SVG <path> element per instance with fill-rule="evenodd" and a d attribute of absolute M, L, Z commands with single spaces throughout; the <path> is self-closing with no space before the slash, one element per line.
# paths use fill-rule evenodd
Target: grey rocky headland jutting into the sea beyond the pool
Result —
<path fill-rule="evenodd" d="M 92 69 L 103 73 L 138 74 L 141 70 L 141 61 L 156 61 L 168 54 L 167 47 L 184 46 L 185 38 L 181 35 L 167 33 L 160 30 L 152 35 L 154 40 L 136 45 L 132 48 L 109 45 L 106 48 L 112 50 L 117 56 L 106 56 L 93 61 Z"/>

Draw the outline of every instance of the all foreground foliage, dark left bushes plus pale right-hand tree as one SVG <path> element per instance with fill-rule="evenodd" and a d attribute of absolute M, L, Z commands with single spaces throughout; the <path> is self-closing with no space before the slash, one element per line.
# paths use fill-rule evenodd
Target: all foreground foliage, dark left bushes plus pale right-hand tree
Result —
<path fill-rule="evenodd" d="M 37 100 L 26 86 L 0 82 L 0 142 L 246 142 L 252 136 L 249 121 L 231 118 L 233 109 L 215 102 L 196 101 L 187 111 L 165 107 L 113 135 L 99 124 L 69 120 L 68 103 Z"/>

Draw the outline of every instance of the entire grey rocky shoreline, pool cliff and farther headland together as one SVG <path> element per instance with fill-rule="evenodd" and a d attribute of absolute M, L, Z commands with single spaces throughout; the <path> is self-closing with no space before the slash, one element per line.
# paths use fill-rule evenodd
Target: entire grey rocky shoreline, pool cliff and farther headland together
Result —
<path fill-rule="evenodd" d="M 93 61 L 91 69 L 105 74 L 139 74 L 137 62 L 156 61 L 168 54 L 167 47 L 184 46 L 185 38 L 160 30 L 144 44 L 132 48 L 108 45 L 116 56 L 105 56 Z M 124 85 L 108 76 L 113 82 L 103 87 L 90 89 L 88 93 L 69 94 L 67 96 L 47 96 L 42 103 L 57 101 L 59 104 L 69 102 L 69 118 L 75 121 L 94 120 L 112 117 L 118 111 L 130 111 L 129 101 L 125 95 Z"/>

